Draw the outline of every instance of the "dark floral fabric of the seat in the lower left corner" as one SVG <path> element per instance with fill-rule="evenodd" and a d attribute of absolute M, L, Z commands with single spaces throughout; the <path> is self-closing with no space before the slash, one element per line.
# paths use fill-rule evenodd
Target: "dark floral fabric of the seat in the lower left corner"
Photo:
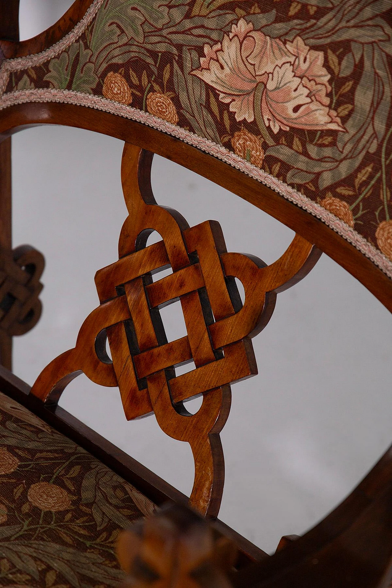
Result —
<path fill-rule="evenodd" d="M 153 509 L 99 460 L 0 393 L 0 586 L 118 586 L 116 537 Z"/>

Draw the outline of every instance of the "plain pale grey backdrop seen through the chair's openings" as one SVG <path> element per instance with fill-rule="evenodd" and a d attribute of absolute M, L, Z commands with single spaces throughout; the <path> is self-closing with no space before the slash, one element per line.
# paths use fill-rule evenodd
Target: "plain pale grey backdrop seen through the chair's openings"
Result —
<path fill-rule="evenodd" d="M 69 5 L 21 0 L 21 38 L 51 25 Z M 95 271 L 116 260 L 126 215 L 122 143 L 60 127 L 29 129 L 12 141 L 14 245 L 31 243 L 46 257 L 41 322 L 15 341 L 15 372 L 32 383 L 75 345 L 98 304 Z M 270 263 L 292 239 L 292 231 L 263 212 L 159 157 L 153 189 L 159 203 L 179 210 L 190 225 L 219 220 L 229 251 Z M 177 310 L 169 307 L 163 316 L 172 339 L 184 329 Z M 220 517 L 262 549 L 272 551 L 282 534 L 316 523 L 391 442 L 391 326 L 387 310 L 325 255 L 303 282 L 279 295 L 271 322 L 253 340 L 259 375 L 233 386 L 222 432 Z M 117 389 L 79 376 L 61 405 L 190 492 L 189 446 L 165 436 L 154 417 L 126 422 Z"/>

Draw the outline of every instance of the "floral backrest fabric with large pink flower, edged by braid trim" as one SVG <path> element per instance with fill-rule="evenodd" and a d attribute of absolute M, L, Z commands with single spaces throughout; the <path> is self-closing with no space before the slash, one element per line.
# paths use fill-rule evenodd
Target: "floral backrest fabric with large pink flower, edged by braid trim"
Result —
<path fill-rule="evenodd" d="M 390 0 L 95 0 L 0 68 L 0 110 L 69 102 L 177 136 L 326 222 L 392 278 Z"/>

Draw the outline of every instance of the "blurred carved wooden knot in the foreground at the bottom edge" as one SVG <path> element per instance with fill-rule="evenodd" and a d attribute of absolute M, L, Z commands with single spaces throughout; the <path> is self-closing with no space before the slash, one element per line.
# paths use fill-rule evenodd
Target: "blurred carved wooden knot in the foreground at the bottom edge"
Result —
<path fill-rule="evenodd" d="M 236 545 L 196 512 L 165 505 L 120 533 L 122 588 L 230 588 Z"/>

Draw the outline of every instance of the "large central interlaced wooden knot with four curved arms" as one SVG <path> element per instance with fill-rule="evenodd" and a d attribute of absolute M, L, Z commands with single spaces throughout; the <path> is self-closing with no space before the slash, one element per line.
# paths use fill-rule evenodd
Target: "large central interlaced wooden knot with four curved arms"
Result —
<path fill-rule="evenodd" d="M 190 503 L 216 516 L 224 479 L 219 433 L 229 415 L 230 385 L 257 373 L 250 338 L 269 322 L 276 293 L 303 278 L 321 253 L 299 235 L 270 266 L 227 253 L 219 223 L 189 227 L 178 212 L 156 204 L 151 162 L 152 153 L 125 144 L 122 185 L 129 216 L 119 260 L 96 273 L 100 305 L 83 323 L 75 348 L 46 366 L 32 393 L 56 402 L 82 372 L 102 386 L 119 386 L 127 419 L 154 412 L 167 435 L 190 443 Z M 154 230 L 162 241 L 146 246 Z M 168 267 L 172 274 L 152 281 L 153 273 Z M 243 305 L 234 278 L 244 286 Z M 177 300 L 187 336 L 167 342 L 159 309 Z M 176 366 L 192 360 L 195 369 L 176 376 Z M 202 406 L 191 415 L 183 401 L 199 395 Z"/>

